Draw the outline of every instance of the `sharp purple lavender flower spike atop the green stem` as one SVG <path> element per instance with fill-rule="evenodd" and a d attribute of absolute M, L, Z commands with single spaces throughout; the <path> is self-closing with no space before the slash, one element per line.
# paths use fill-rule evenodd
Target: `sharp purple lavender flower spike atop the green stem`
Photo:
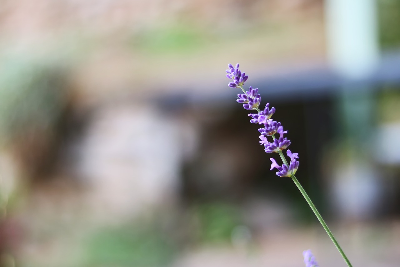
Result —
<path fill-rule="evenodd" d="M 285 150 L 290 145 L 290 140 L 284 137 L 288 131 L 284 131 L 280 122 L 271 119 L 272 115 L 275 113 L 275 108 L 269 108 L 269 103 L 265 105 L 264 110 L 258 109 L 261 103 L 261 96 L 258 93 L 258 88 L 249 87 L 248 91 L 243 89 L 244 82 L 247 81 L 248 76 L 239 70 L 239 64 L 233 67 L 231 64 L 228 65 L 229 69 L 226 70 L 228 73 L 226 77 L 232 79 L 233 82 L 228 84 L 232 88 L 240 88 L 243 93 L 238 94 L 238 99 L 236 102 L 243 104 L 244 109 L 256 110 L 258 113 L 250 113 L 249 116 L 251 123 L 262 124 L 264 128 L 258 129 L 260 132 L 260 144 L 264 146 L 264 150 L 267 153 L 279 153 L 284 160 L 284 164 L 279 166 L 276 161 L 271 158 L 272 161 L 271 170 L 277 168 L 278 172 L 276 175 L 280 177 L 291 177 L 294 175 L 298 169 L 299 162 L 296 160 L 298 158 L 297 153 L 287 151 L 287 155 L 290 157 L 290 163 L 288 164 L 284 159 L 282 150 Z M 279 138 L 275 138 L 275 134 L 279 134 Z M 272 137 L 272 142 L 268 141 L 268 136 Z"/>

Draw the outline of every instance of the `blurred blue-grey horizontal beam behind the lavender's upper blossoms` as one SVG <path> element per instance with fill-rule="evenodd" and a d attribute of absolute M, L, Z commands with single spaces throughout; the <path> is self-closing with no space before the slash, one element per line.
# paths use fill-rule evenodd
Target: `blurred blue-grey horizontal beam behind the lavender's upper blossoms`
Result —
<path fill-rule="evenodd" d="M 380 60 L 376 71 L 365 79 L 349 80 L 341 77 L 328 65 L 315 65 L 303 70 L 301 67 L 277 71 L 262 79 L 255 79 L 251 85 L 259 88 L 263 99 L 267 101 L 302 101 L 324 99 L 335 96 L 341 87 L 353 90 L 365 88 L 380 89 L 381 85 L 400 87 L 400 53 L 386 53 Z M 221 79 L 226 79 L 222 77 Z M 228 81 L 228 80 L 227 80 Z M 208 91 L 209 92 L 209 91 Z M 240 93 L 229 88 L 212 90 L 208 94 L 196 94 L 182 90 L 158 97 L 158 102 L 165 109 L 175 109 L 182 105 L 230 105 L 232 97 Z M 218 104 L 217 104 L 218 103 Z M 264 103 L 264 101 L 263 101 Z"/>

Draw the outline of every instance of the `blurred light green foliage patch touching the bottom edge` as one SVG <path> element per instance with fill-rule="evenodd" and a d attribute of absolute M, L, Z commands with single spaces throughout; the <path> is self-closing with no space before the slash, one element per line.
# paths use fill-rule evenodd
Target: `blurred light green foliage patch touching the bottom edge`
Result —
<path fill-rule="evenodd" d="M 176 244 L 154 224 L 108 228 L 96 232 L 85 247 L 83 266 L 166 266 Z"/>

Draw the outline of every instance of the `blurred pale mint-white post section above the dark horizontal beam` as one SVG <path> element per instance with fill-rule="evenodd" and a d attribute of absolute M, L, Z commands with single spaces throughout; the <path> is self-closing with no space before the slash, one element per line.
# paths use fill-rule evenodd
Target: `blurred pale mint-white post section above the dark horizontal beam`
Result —
<path fill-rule="evenodd" d="M 341 75 L 363 78 L 379 59 L 375 0 L 326 0 L 328 59 Z"/>

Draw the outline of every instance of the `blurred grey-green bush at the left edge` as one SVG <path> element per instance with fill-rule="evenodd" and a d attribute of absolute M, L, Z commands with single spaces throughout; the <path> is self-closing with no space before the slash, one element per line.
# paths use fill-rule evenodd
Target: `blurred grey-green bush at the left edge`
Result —
<path fill-rule="evenodd" d="M 56 63 L 4 58 L 0 75 L 0 142 L 52 129 L 66 107 L 66 76 Z"/>

